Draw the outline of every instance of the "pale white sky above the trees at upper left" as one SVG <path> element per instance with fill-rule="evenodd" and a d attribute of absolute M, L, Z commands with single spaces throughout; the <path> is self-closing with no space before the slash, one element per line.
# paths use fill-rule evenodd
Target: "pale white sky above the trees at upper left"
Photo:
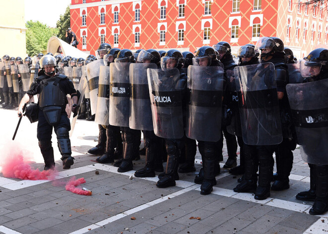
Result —
<path fill-rule="evenodd" d="M 65 13 L 72 0 L 24 0 L 25 21 L 39 20 L 41 23 L 56 27 L 59 16 Z"/>

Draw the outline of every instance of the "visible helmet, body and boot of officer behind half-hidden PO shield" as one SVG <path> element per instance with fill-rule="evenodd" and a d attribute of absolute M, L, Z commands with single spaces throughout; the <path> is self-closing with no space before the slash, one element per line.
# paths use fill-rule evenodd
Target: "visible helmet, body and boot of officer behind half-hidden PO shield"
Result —
<path fill-rule="evenodd" d="M 228 42 L 225 41 L 221 41 L 216 45 L 213 45 L 213 48 L 218 51 L 219 53 L 219 60 L 220 62 L 223 64 L 224 66 L 224 71 L 233 71 L 234 68 L 237 66 L 237 64 L 235 63 L 235 61 L 233 60 L 233 57 L 231 55 L 231 46 Z M 233 73 L 233 72 L 232 72 Z M 228 76 L 229 77 L 229 76 Z M 229 90 L 228 90 L 229 91 Z M 233 91 L 230 91 L 229 93 L 232 93 Z M 229 118 L 229 114 L 225 114 L 225 112 L 229 110 L 228 108 L 231 108 L 230 105 L 231 103 L 233 103 L 235 100 L 233 100 L 233 96 L 229 95 L 225 98 L 224 100 L 224 108 L 223 108 L 223 116 L 227 116 Z M 226 138 L 226 143 L 227 143 L 227 151 L 228 151 L 228 159 L 225 163 L 225 165 L 223 166 L 223 168 L 232 168 L 237 166 L 237 141 L 236 141 L 236 136 L 233 134 L 230 134 L 227 131 L 227 124 L 225 124 L 226 122 L 229 122 L 229 119 L 224 119 L 223 121 L 223 126 L 222 126 L 222 131 L 223 134 Z M 220 149 L 223 148 L 223 138 L 220 139 Z M 242 146 L 243 148 L 243 146 Z M 220 157 L 223 160 L 223 157 L 221 156 L 221 151 L 220 151 Z"/>

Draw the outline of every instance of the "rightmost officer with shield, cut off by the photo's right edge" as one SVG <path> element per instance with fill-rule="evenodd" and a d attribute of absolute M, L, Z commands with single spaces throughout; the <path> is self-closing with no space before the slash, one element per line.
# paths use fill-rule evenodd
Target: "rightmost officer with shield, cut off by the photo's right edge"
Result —
<path fill-rule="evenodd" d="M 296 199 L 314 201 L 311 215 L 328 211 L 327 71 L 328 50 L 315 49 L 301 61 L 303 83 L 287 85 L 301 156 L 310 166 L 310 190 L 298 193 Z"/>

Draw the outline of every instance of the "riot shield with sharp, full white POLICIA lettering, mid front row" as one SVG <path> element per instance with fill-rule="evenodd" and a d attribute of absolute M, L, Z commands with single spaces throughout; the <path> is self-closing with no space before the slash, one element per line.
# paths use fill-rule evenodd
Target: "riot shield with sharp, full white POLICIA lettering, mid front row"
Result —
<path fill-rule="evenodd" d="M 156 136 L 165 139 L 183 137 L 181 90 L 177 88 L 177 69 L 148 69 L 153 127 Z"/>

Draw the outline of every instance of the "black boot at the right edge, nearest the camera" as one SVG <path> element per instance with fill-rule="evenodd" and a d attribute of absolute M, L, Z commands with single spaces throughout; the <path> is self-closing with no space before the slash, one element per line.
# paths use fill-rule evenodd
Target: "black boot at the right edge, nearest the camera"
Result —
<path fill-rule="evenodd" d="M 310 215 L 322 215 L 328 211 L 328 165 L 314 165 L 316 173 L 316 199 Z"/>

